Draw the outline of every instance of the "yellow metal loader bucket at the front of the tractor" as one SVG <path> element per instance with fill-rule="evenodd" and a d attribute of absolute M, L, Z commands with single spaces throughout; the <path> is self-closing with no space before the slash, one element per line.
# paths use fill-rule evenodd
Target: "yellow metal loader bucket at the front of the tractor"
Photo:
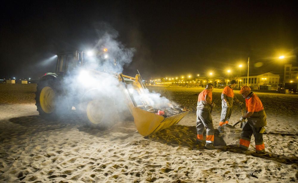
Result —
<path fill-rule="evenodd" d="M 142 136 L 148 136 L 152 133 L 177 124 L 189 111 L 167 118 L 137 107 L 134 107 L 132 112 L 136 129 Z"/>

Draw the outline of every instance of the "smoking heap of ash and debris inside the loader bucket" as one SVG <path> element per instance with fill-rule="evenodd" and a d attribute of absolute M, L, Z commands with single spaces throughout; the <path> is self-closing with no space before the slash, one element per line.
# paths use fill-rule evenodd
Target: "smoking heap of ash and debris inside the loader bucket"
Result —
<path fill-rule="evenodd" d="M 162 109 L 154 109 L 152 108 L 152 106 L 145 105 L 145 107 L 142 109 L 151 113 L 158 114 L 160 116 L 164 116 L 165 118 L 188 111 L 186 107 L 173 105 L 173 104 L 170 105 L 170 107 L 168 108 L 162 108 Z"/>

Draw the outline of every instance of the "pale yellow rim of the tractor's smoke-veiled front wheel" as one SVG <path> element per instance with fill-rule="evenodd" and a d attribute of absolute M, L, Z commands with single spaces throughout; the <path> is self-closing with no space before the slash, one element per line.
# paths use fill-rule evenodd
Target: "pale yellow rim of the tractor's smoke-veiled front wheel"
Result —
<path fill-rule="evenodd" d="M 105 117 L 104 109 L 98 100 L 88 102 L 86 114 L 89 121 L 93 124 L 100 124 Z"/>

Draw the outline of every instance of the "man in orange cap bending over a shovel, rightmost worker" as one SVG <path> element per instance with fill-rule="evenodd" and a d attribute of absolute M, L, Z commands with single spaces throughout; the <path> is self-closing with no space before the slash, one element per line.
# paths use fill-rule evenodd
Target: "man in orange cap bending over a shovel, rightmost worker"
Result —
<path fill-rule="evenodd" d="M 254 134 L 256 152 L 252 155 L 265 155 L 263 132 L 265 131 L 264 126 L 266 126 L 267 122 L 263 104 L 259 97 L 251 91 L 249 86 L 242 86 L 239 94 L 242 94 L 246 103 L 246 114 L 242 116 L 240 120 L 241 122 L 245 122 L 245 119 L 247 119 L 241 132 L 239 146 L 243 150 L 247 150 L 249 148 L 252 134 Z"/>

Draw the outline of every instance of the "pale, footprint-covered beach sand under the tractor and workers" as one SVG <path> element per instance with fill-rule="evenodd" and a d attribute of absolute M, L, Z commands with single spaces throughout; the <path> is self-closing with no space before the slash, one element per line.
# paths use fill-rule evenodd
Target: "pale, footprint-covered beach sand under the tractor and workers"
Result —
<path fill-rule="evenodd" d="M 298 181 L 298 95 L 256 93 L 267 113 L 263 138 L 268 155 L 254 157 L 254 138 L 248 152 L 233 148 L 239 128 L 231 129 L 224 137 L 227 146 L 219 149 L 195 144 L 195 108 L 202 88 L 150 87 L 191 111 L 177 125 L 145 138 L 132 121 L 100 131 L 87 127 L 75 111 L 46 121 L 36 111 L 35 88 L 0 84 L 0 182 Z M 213 91 L 215 128 L 221 91 Z M 230 124 L 240 117 L 240 108 L 234 107 Z"/>

